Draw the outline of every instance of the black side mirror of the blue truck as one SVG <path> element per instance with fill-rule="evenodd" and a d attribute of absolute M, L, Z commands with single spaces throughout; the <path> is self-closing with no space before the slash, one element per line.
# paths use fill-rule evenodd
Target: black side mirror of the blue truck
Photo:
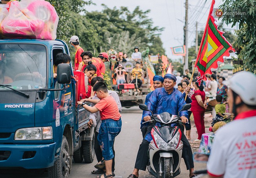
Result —
<path fill-rule="evenodd" d="M 71 82 L 71 69 L 69 64 L 59 64 L 57 67 L 57 81 L 60 84 Z"/>

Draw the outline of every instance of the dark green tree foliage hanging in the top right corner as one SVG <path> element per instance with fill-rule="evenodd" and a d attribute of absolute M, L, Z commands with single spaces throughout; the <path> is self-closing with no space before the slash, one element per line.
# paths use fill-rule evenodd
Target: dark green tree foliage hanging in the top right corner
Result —
<path fill-rule="evenodd" d="M 244 16 L 232 16 L 227 14 L 223 17 L 223 22 L 232 24 L 232 27 L 239 24 L 239 30 L 236 30 L 237 39 L 234 47 L 241 49 L 238 55 L 244 62 L 245 69 L 256 74 L 256 1 L 252 0 L 224 0 L 221 9 L 228 12 L 238 10 L 246 12 Z"/>

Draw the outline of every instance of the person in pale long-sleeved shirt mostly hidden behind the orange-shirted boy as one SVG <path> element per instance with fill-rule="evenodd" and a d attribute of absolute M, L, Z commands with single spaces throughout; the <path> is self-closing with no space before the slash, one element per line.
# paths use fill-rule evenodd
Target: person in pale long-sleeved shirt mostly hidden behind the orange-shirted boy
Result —
<path fill-rule="evenodd" d="M 99 81 L 104 81 L 102 78 L 100 77 L 95 77 L 92 79 L 92 82 L 91 82 L 91 85 L 94 86 L 95 83 L 99 82 Z M 121 105 L 121 102 L 120 102 L 120 99 L 118 97 L 118 94 L 115 92 L 115 91 L 112 91 L 112 90 L 107 90 L 109 95 L 111 95 L 114 100 L 116 101 L 116 104 L 118 105 L 118 110 L 119 112 L 122 111 L 122 105 Z M 99 98 L 94 95 L 92 100 L 99 100 Z M 90 99 L 83 99 L 81 100 L 82 102 L 91 102 L 92 100 Z M 95 104 L 91 104 L 91 106 L 93 107 Z M 96 154 L 96 157 L 97 157 L 97 161 L 100 162 L 102 160 L 102 151 L 100 149 L 100 145 L 99 145 L 99 142 L 98 142 L 98 135 L 99 135 L 99 129 L 100 129 L 100 124 L 101 124 L 101 119 L 100 119 L 100 112 L 95 112 L 95 113 L 91 113 L 90 114 L 90 119 L 89 119 L 89 122 L 88 122 L 88 127 L 91 128 L 92 126 L 96 128 L 96 131 L 95 131 L 95 140 L 94 140 L 94 150 L 95 150 L 95 154 Z M 114 172 L 115 170 L 115 151 L 114 151 L 114 142 L 113 142 L 113 154 L 114 154 L 114 157 L 112 159 L 112 171 Z M 104 174 L 106 173 L 106 169 L 97 169 L 95 171 L 92 171 L 91 172 L 92 174 Z"/>

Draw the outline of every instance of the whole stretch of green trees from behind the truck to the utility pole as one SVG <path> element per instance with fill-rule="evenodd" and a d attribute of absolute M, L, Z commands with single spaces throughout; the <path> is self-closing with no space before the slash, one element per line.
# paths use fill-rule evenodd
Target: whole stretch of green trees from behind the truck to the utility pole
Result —
<path fill-rule="evenodd" d="M 80 39 L 81 47 L 94 55 L 111 48 L 130 54 L 134 46 L 141 50 L 150 47 L 153 54 L 164 54 L 163 43 L 159 38 L 163 28 L 153 26 L 148 17 L 150 10 L 136 7 L 129 11 L 127 7 L 113 9 L 102 4 L 102 12 L 88 12 L 92 0 L 47 0 L 59 15 L 57 38 L 66 42 L 73 35 Z M 71 57 L 74 49 L 71 48 Z"/>

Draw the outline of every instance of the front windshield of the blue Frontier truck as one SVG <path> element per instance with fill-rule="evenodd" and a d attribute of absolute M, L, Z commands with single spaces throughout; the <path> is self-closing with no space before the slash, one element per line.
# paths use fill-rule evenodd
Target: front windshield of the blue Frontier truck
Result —
<path fill-rule="evenodd" d="M 0 44 L 0 84 L 17 90 L 46 86 L 46 48 L 35 44 Z M 10 90 L 0 86 L 0 90 Z"/>

